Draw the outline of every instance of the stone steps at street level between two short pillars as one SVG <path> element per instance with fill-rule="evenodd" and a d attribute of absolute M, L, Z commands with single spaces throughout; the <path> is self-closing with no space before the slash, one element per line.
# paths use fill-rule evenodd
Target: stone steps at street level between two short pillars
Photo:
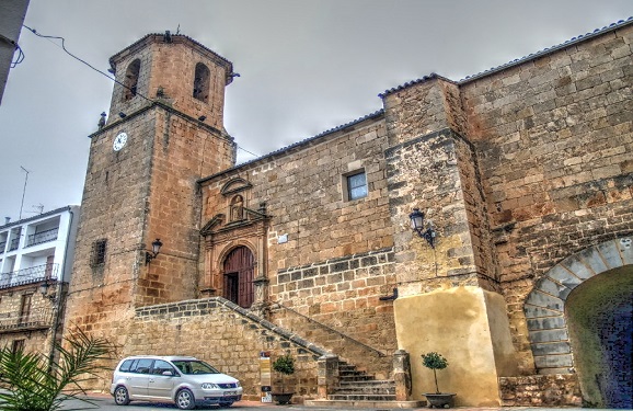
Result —
<path fill-rule="evenodd" d="M 372 375 L 356 369 L 355 365 L 338 364 L 338 387 L 326 400 L 306 400 L 308 407 L 343 408 L 421 408 L 425 401 L 396 401 L 395 381 L 378 380 Z"/>

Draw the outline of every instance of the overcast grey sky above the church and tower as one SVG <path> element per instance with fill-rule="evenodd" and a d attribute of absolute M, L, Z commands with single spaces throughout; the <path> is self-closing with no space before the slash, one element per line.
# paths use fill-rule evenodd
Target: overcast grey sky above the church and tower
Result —
<path fill-rule="evenodd" d="M 24 24 L 102 71 L 166 30 L 232 61 L 225 127 L 244 162 L 373 113 L 407 81 L 460 80 L 632 15 L 631 0 L 31 0 Z M 113 90 L 60 41 L 23 28 L 19 44 L 0 105 L 12 220 L 81 203 L 88 136 Z"/>

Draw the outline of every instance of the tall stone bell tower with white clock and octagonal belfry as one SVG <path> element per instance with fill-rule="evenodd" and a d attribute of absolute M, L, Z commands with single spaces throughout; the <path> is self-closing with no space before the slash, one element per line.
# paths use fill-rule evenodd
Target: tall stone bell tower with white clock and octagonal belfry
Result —
<path fill-rule="evenodd" d="M 196 181 L 228 169 L 232 64 L 184 35 L 150 34 L 110 59 L 107 122 L 90 136 L 67 324 L 125 344 L 134 309 L 197 297 Z M 160 239 L 158 256 L 147 250 Z"/>

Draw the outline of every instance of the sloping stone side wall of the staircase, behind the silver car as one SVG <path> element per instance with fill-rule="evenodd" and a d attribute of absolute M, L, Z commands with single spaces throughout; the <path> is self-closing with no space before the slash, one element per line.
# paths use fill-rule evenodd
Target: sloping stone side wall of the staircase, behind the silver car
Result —
<path fill-rule="evenodd" d="M 286 378 L 294 387 L 292 401 L 316 398 L 316 359 L 325 351 L 292 332 L 241 309 L 223 298 L 187 300 L 136 310 L 128 344 L 120 357 L 135 354 L 193 355 L 240 380 L 244 399 L 261 398 L 260 353 L 271 359 L 289 353 L 296 374 Z M 105 381 L 108 383 L 108 381 Z M 280 388 L 273 376 L 273 388 Z M 104 387 L 105 389 L 105 387 Z"/>

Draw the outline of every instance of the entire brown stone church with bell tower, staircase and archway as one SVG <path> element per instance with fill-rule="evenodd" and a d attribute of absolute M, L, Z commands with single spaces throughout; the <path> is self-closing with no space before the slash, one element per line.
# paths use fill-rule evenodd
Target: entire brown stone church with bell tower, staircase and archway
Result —
<path fill-rule="evenodd" d="M 149 34 L 110 60 L 65 328 L 115 343 L 112 367 L 196 356 L 252 400 L 290 354 L 295 402 L 419 407 L 437 352 L 456 406 L 631 408 L 632 47 L 630 19 L 433 73 L 237 165 L 232 64 Z"/>

